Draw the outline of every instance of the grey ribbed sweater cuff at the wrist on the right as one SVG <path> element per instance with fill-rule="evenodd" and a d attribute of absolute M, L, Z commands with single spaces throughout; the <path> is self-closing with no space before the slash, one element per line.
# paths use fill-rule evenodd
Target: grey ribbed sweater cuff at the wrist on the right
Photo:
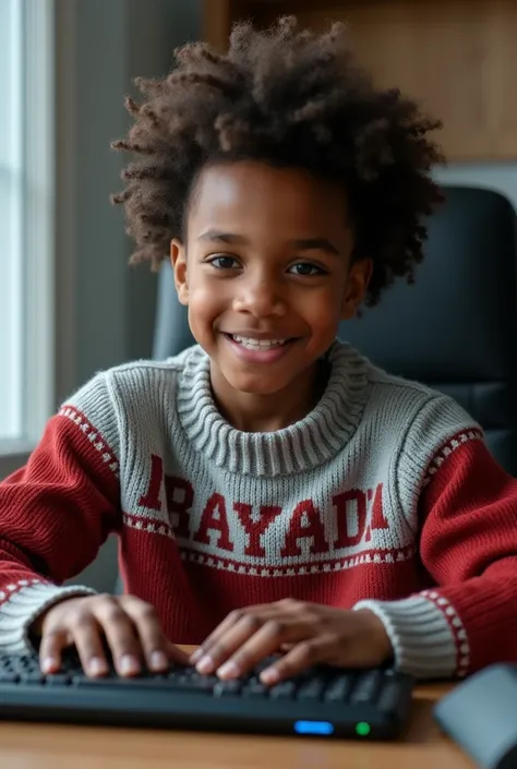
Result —
<path fill-rule="evenodd" d="M 457 672 L 456 637 L 445 613 L 423 596 L 400 601 L 359 601 L 384 624 L 395 666 L 416 678 L 450 678 Z"/>

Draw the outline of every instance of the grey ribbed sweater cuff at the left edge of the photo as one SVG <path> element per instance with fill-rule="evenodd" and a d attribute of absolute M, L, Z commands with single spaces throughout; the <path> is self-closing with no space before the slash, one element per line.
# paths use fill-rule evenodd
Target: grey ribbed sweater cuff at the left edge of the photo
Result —
<path fill-rule="evenodd" d="M 36 579 L 22 579 L 17 585 L 8 585 L 3 593 L 7 593 L 7 600 L 0 603 L 0 653 L 23 654 L 35 651 L 29 628 L 41 612 L 64 598 L 95 596 L 95 590 L 75 585 L 60 588 Z"/>

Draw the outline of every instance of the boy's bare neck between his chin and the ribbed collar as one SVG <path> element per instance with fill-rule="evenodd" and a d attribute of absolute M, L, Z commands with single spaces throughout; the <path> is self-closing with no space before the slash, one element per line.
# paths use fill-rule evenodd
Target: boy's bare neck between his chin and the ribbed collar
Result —
<path fill-rule="evenodd" d="M 285 390 L 255 395 L 233 389 L 220 372 L 211 371 L 213 396 L 219 412 L 233 428 L 249 433 L 275 432 L 306 417 L 322 397 L 327 377 L 327 367 L 316 363 Z"/>

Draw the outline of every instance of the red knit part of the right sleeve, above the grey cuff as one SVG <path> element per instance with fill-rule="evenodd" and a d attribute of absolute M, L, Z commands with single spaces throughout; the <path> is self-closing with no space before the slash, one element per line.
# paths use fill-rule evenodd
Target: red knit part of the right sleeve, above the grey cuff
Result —
<path fill-rule="evenodd" d="M 470 440 L 421 497 L 421 557 L 438 586 L 424 593 L 456 637 L 458 673 L 517 660 L 517 480 Z"/>

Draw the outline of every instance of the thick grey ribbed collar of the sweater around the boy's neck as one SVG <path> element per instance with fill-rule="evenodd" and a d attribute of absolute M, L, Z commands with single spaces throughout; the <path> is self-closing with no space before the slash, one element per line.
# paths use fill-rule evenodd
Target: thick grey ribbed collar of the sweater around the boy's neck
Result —
<path fill-rule="evenodd" d="M 340 341 L 329 350 L 327 386 L 314 409 L 288 428 L 266 433 L 236 430 L 217 410 L 209 358 L 193 347 L 179 375 L 177 409 L 194 449 L 214 465 L 242 476 L 304 472 L 332 459 L 351 438 L 368 397 L 368 361 Z"/>

